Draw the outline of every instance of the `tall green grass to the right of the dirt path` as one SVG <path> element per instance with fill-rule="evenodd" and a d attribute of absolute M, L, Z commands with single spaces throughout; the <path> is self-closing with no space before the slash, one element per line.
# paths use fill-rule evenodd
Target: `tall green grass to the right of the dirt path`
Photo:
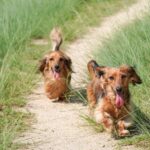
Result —
<path fill-rule="evenodd" d="M 140 133 L 123 140 L 123 144 L 146 146 L 150 143 L 150 15 L 124 27 L 95 53 L 101 65 L 134 66 L 143 83 L 131 86 L 132 101 L 135 104 L 135 124 Z M 140 142 L 141 141 L 141 142 Z M 143 141 L 143 142 L 142 142 Z"/>

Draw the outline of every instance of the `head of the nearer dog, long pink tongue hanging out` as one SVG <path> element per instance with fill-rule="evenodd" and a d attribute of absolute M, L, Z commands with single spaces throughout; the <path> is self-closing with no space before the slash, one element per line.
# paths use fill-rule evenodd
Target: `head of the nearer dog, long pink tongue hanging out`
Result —
<path fill-rule="evenodd" d="M 117 107 L 123 106 L 124 100 L 129 96 L 130 83 L 133 85 L 142 83 L 134 68 L 130 66 L 123 65 L 119 68 L 109 68 L 105 73 L 107 84 L 115 93 Z"/>

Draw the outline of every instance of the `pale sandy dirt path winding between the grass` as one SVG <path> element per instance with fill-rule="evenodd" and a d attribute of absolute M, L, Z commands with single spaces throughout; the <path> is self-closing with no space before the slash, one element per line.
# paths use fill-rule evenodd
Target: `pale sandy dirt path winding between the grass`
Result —
<path fill-rule="evenodd" d="M 140 0 L 128 10 L 108 17 L 100 27 L 91 28 L 89 33 L 72 43 L 67 54 L 72 58 L 74 71 L 73 87 L 84 86 L 85 68 L 92 58 L 92 51 L 102 45 L 103 40 L 123 25 L 148 10 L 148 0 Z M 114 150 L 117 141 L 107 133 L 96 133 L 88 127 L 81 114 L 87 114 L 87 107 L 77 103 L 52 103 L 44 95 L 43 85 L 28 97 L 26 110 L 35 115 L 31 129 L 23 133 L 17 142 L 25 144 L 29 150 Z M 122 149 L 131 149 L 124 147 Z"/>

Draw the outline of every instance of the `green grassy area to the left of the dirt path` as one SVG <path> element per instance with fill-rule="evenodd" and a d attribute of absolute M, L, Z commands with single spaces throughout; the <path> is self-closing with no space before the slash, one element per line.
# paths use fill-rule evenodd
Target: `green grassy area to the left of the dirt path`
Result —
<path fill-rule="evenodd" d="M 33 38 L 47 38 L 60 26 L 65 41 L 84 33 L 135 0 L 0 0 L 0 149 L 15 149 L 12 143 L 25 128 L 28 115 L 15 111 L 36 85 L 37 64 L 48 46 L 30 45 Z"/>

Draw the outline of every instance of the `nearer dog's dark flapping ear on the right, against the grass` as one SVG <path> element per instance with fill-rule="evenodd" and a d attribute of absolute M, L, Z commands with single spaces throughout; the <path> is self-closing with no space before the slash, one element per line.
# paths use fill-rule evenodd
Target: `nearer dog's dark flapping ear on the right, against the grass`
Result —
<path fill-rule="evenodd" d="M 139 75 L 136 73 L 134 67 L 131 66 L 122 66 L 122 69 L 125 70 L 129 75 L 129 82 L 133 85 L 141 84 L 142 80 Z"/>

